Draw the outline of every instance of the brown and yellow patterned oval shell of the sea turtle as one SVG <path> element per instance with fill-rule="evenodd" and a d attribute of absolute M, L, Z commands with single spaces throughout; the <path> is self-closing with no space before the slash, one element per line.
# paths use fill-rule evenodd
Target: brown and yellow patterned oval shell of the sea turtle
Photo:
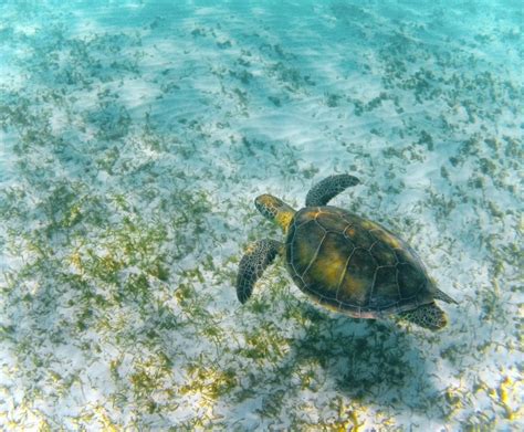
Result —
<path fill-rule="evenodd" d="M 432 283 L 406 242 L 336 207 L 297 211 L 285 254 L 304 293 L 349 316 L 377 318 L 433 302 Z"/>

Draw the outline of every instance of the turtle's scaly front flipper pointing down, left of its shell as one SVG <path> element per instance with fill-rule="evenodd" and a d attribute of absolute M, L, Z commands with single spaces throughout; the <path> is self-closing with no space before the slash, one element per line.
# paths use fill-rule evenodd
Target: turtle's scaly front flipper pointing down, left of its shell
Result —
<path fill-rule="evenodd" d="M 248 247 L 240 260 L 237 275 L 237 297 L 240 303 L 244 304 L 251 297 L 255 282 L 282 249 L 281 242 L 270 239 L 260 240 Z"/>

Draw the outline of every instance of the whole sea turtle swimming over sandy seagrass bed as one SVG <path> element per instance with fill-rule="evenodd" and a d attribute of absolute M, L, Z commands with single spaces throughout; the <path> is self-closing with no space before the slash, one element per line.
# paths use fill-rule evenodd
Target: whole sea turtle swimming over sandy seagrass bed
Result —
<path fill-rule="evenodd" d="M 327 206 L 358 183 L 349 175 L 327 177 L 298 211 L 271 194 L 258 197 L 256 209 L 276 221 L 285 243 L 264 239 L 248 247 L 237 277 L 239 301 L 248 301 L 256 280 L 282 255 L 298 288 L 323 306 L 356 318 L 399 315 L 431 330 L 444 327 L 446 314 L 434 301 L 457 302 L 437 288 L 415 251 L 382 225 Z"/>

